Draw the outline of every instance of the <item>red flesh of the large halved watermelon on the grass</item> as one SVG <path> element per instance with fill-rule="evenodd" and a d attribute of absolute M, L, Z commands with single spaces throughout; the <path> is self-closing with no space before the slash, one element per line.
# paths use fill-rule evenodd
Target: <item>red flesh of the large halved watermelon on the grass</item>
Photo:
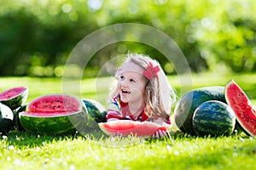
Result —
<path fill-rule="evenodd" d="M 57 116 L 81 111 L 79 99 L 68 94 L 50 94 L 34 99 L 26 107 L 26 115 Z"/>

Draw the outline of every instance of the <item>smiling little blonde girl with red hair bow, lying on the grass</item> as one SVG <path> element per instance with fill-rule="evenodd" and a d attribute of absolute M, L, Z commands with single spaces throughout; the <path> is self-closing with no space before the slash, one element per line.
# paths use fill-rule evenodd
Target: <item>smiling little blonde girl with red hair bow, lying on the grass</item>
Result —
<path fill-rule="evenodd" d="M 115 75 L 118 83 L 110 94 L 107 121 L 131 120 L 171 123 L 176 94 L 160 64 L 143 54 L 127 54 Z M 160 138 L 165 131 L 153 134 Z"/>

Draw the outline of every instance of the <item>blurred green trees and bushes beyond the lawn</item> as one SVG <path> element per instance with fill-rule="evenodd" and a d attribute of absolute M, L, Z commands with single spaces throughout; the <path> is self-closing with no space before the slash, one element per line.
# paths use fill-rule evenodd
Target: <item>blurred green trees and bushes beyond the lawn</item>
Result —
<path fill-rule="evenodd" d="M 84 37 L 116 23 L 154 26 L 177 42 L 193 72 L 256 70 L 254 0 L 1 0 L 0 76 L 61 77 L 68 55 Z M 86 68 L 95 77 L 109 59 L 128 51 L 175 70 L 157 49 L 117 42 Z"/>

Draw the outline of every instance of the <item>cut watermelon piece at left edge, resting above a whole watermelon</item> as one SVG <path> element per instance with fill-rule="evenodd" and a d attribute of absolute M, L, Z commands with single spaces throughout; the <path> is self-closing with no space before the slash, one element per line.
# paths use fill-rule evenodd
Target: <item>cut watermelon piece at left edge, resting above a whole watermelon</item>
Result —
<path fill-rule="evenodd" d="M 27 87 L 10 88 L 0 94 L 0 102 L 9 106 L 9 108 L 14 111 L 26 103 L 27 95 Z"/>

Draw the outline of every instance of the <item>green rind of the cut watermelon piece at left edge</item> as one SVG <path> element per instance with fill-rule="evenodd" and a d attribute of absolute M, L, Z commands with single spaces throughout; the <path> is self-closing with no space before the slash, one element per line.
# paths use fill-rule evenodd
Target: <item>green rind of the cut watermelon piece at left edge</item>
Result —
<path fill-rule="evenodd" d="M 9 108 L 11 110 L 15 110 L 17 108 L 19 108 L 21 105 L 24 105 L 26 103 L 26 99 L 28 96 L 28 87 L 18 87 L 18 88 L 24 88 L 24 91 L 21 92 L 20 94 L 17 94 L 16 96 L 14 96 L 11 99 L 1 99 L 0 103 L 3 103 L 4 105 L 9 106 Z M 11 89 L 15 89 L 15 88 L 11 88 Z M 9 90 L 11 90 L 9 89 Z M 4 91 L 5 92 L 5 91 Z"/>

